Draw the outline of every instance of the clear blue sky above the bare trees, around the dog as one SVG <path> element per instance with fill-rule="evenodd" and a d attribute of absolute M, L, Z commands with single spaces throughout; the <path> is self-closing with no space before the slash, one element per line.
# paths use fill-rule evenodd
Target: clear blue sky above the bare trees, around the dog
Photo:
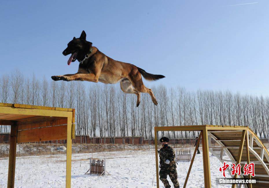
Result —
<path fill-rule="evenodd" d="M 268 96 L 268 10 L 266 0 L 1 1 L 0 74 L 75 73 L 62 51 L 85 30 L 107 56 L 166 76 L 148 86 Z"/>

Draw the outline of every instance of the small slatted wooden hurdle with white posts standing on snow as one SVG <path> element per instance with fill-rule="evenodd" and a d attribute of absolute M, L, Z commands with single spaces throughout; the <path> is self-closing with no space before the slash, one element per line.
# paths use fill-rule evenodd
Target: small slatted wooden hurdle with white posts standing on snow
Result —
<path fill-rule="evenodd" d="M 106 173 L 108 173 L 106 171 L 106 159 L 96 160 L 96 159 L 90 158 L 90 168 L 85 174 L 98 174 L 101 176 L 101 175 L 105 175 Z"/>

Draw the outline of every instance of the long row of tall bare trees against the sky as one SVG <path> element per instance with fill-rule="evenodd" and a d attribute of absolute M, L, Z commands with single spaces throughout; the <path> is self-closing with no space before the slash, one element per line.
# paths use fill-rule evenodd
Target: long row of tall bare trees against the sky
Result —
<path fill-rule="evenodd" d="M 86 86 L 87 85 L 87 86 Z M 269 139 L 269 98 L 242 95 L 231 91 L 214 92 L 185 88 L 167 89 L 164 85 L 152 88 L 158 105 L 148 94 L 125 94 L 119 85 L 52 81 L 25 77 L 16 70 L 1 75 L 0 102 L 67 107 L 76 109 L 76 134 L 91 137 L 141 136 L 154 137 L 154 126 L 239 125 L 249 126 L 261 138 Z M 8 132 L 0 125 L 0 132 Z M 158 137 L 164 132 L 158 133 Z M 167 132 L 170 138 L 191 139 L 196 132 Z"/>

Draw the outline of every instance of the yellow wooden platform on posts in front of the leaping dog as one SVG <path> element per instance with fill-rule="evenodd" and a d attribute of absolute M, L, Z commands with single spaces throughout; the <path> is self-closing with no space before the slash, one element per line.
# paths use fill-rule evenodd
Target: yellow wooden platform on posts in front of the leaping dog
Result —
<path fill-rule="evenodd" d="M 75 138 L 75 109 L 0 103 L 0 125 L 10 125 L 8 188 L 15 183 L 17 143 L 67 140 L 66 184 L 71 187 L 72 138 Z"/>

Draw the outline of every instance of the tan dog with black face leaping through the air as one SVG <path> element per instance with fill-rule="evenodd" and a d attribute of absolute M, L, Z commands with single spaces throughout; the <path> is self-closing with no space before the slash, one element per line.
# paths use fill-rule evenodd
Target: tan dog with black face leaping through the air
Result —
<path fill-rule="evenodd" d="M 110 84 L 120 82 L 123 92 L 137 95 L 137 107 L 140 104 L 140 92 L 150 94 L 154 105 L 158 104 L 152 90 L 146 88 L 143 84 L 141 75 L 146 80 L 151 81 L 164 78 L 165 76 L 153 75 L 130 63 L 116 61 L 100 52 L 92 44 L 86 41 L 85 31 L 82 31 L 80 38 L 74 37 L 67 44 L 67 48 L 62 54 L 65 56 L 71 54 L 67 61 L 68 65 L 76 59 L 80 62 L 78 72 L 75 74 L 52 76 L 51 79 L 54 81 L 100 81 Z"/>

